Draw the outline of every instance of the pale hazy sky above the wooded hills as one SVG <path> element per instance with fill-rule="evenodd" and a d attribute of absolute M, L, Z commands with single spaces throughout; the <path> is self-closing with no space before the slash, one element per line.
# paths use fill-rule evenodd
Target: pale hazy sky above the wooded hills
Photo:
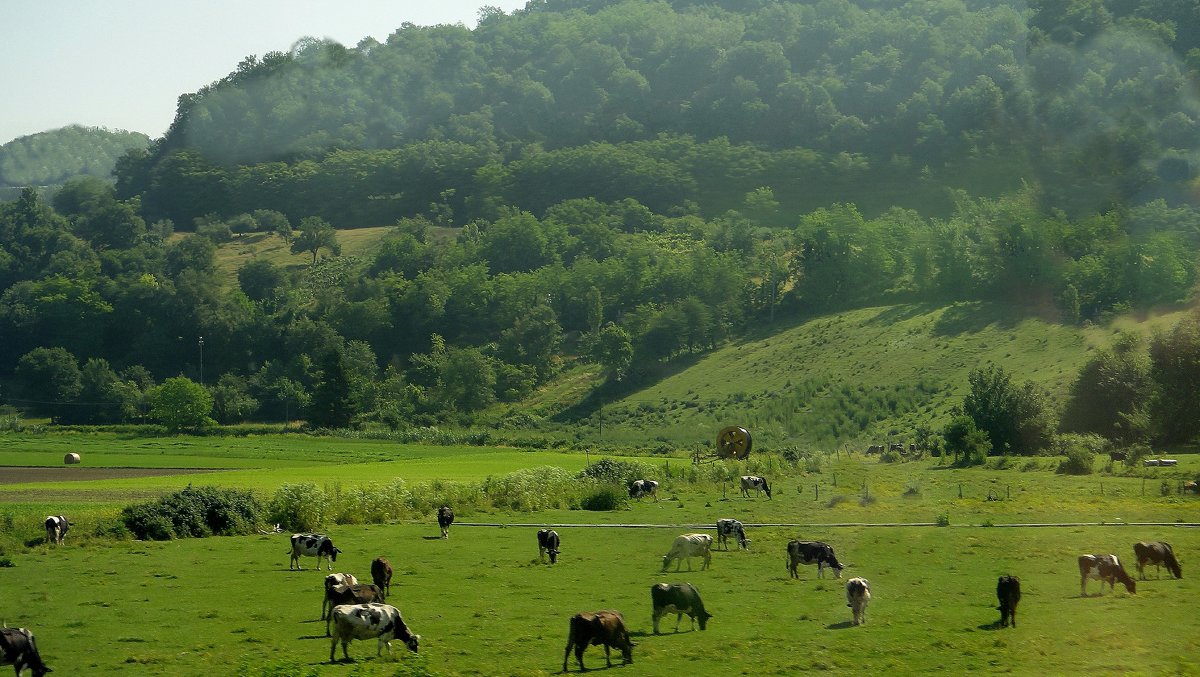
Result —
<path fill-rule="evenodd" d="M 161 137 L 179 95 L 300 37 L 354 47 L 404 22 L 474 28 L 524 0 L 0 0 L 0 145 L 67 125 Z"/>

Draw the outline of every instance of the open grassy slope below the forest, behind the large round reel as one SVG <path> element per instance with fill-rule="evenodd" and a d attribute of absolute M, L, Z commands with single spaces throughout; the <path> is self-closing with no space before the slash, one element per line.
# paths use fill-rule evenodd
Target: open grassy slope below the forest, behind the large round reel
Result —
<path fill-rule="evenodd" d="M 996 364 L 1066 402 L 1092 351 L 1118 331 L 1150 335 L 1186 311 L 1072 328 L 984 304 L 882 306 L 828 314 L 734 342 L 602 407 L 610 443 L 712 448 L 716 431 L 745 426 L 779 449 L 862 449 L 910 443 L 934 430 L 968 391 L 971 370 Z M 542 403 L 541 406 L 545 406 Z M 600 405 L 589 405 L 593 412 Z M 582 411 L 587 407 L 580 407 Z M 590 414 L 598 423 L 598 414 Z"/>

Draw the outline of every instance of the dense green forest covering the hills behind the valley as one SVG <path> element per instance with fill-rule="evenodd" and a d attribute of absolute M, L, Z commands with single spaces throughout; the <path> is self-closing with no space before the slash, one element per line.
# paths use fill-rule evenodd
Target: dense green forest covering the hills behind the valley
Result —
<path fill-rule="evenodd" d="M 1165 0 L 545 0 L 302 38 L 182 95 L 113 180 L 0 204 L 0 397 L 121 423 L 170 385 L 226 424 L 469 425 L 571 364 L 620 390 L 782 318 L 1186 304 L 1198 41 L 1200 5 Z M 223 282 L 256 233 L 295 264 Z M 1169 340 L 1105 355 L 1140 370 L 1114 405 L 1136 438 L 1195 433 L 1147 405 Z"/>

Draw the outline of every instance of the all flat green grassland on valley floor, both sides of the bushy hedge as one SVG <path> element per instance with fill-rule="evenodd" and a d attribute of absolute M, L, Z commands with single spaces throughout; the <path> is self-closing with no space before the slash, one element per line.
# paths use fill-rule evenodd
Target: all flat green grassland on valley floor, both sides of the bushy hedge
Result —
<path fill-rule="evenodd" d="M 396 643 L 376 658 L 373 641 L 350 646 L 350 664 L 329 664 L 318 621 L 322 574 L 305 559 L 288 570 L 288 534 L 166 543 L 109 543 L 101 517 L 136 498 L 196 485 L 250 489 L 268 497 L 282 483 L 326 490 L 392 478 L 412 485 L 479 483 L 546 465 L 577 471 L 596 456 L 504 448 L 449 448 L 310 438 L 126 438 L 115 435 L 6 436 L 0 473 L 17 466 L 61 468 L 79 451 L 88 468 L 228 468 L 156 478 L 0 484 L 0 520 L 28 535 L 2 553 L 0 616 L 38 635 L 43 657 L 64 675 L 547 675 L 562 669 L 568 618 L 617 609 L 638 643 L 629 675 L 836 675 L 1010 672 L 1198 675 L 1193 553 L 1200 551 L 1198 501 L 1177 486 L 1200 457 L 1176 468 L 1106 468 L 1067 477 L 1056 459 L 959 469 L 938 460 L 880 463 L 854 454 L 820 455 L 793 467 L 756 455 L 745 463 L 694 466 L 643 457 L 662 481 L 660 501 L 614 511 L 498 509 L 460 511 L 448 540 L 432 515 L 374 525 L 328 525 L 343 553 L 335 570 L 368 577 L 370 562 L 395 569 L 390 603 L 422 636 L 421 653 Z M 162 466 L 160 466 L 162 467 Z M 78 468 L 68 468 L 78 469 Z M 774 478 L 774 496 L 744 498 L 731 478 Z M 46 546 L 37 522 L 72 516 L 61 549 Z M 748 551 L 715 552 L 709 570 L 661 573 L 671 540 L 719 517 L 750 525 Z M 872 525 L 919 526 L 872 526 Z M 1037 528 L 1006 525 L 1058 525 Z M 485 526 L 486 525 L 486 526 Z M 536 562 L 534 532 L 563 538 L 558 565 Z M 563 525 L 563 526 L 559 526 Z M 942 525 L 942 526 L 937 526 Z M 800 568 L 791 580 L 791 538 L 824 540 L 871 581 L 863 627 L 850 623 L 845 581 Z M 1088 583 L 1080 597 L 1075 558 L 1115 552 L 1136 576 L 1132 545 L 1166 540 L 1184 579 L 1140 581 L 1136 594 Z M 1022 580 L 1016 629 L 998 629 L 995 581 Z M 649 586 L 696 585 L 714 615 L 707 631 L 680 633 L 665 619 L 650 633 Z M 590 648 L 584 663 L 604 667 Z M 341 651 L 338 649 L 338 657 Z M 619 660 L 617 661 L 619 665 Z M 576 670 L 574 657 L 569 664 Z"/>

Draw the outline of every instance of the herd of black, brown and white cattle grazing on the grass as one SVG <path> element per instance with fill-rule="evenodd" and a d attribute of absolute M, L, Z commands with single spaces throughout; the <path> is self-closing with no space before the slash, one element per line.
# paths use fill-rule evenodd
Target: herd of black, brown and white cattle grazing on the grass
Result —
<path fill-rule="evenodd" d="M 757 490 L 770 498 L 770 489 L 767 481 L 760 477 L 745 475 L 742 478 L 742 493 L 749 496 L 750 490 Z M 630 486 L 630 496 L 641 498 L 642 496 L 656 496 L 658 483 L 653 480 L 637 480 Z M 442 529 L 442 538 L 449 538 L 450 525 L 454 523 L 454 510 L 443 505 L 437 511 L 438 527 Z M 62 515 L 48 516 L 46 519 L 47 544 L 62 545 L 62 538 L 70 528 L 70 522 Z M 550 563 L 558 562 L 560 552 L 560 539 L 553 529 L 538 531 L 538 557 L 545 562 L 545 556 L 550 555 Z M 733 538 L 738 547 L 749 547 L 750 539 L 745 535 L 745 525 L 734 519 L 721 519 L 716 522 L 716 541 L 719 546 L 728 550 L 728 539 Z M 679 570 L 684 561 L 688 570 L 691 570 L 691 559 L 701 559 L 701 570 L 709 567 L 712 562 L 713 537 L 701 533 L 689 533 L 679 535 L 671 544 L 671 549 L 662 556 L 662 571 L 666 571 L 671 562 L 676 562 L 676 571 Z M 1154 564 L 1159 577 L 1162 567 L 1176 577 L 1183 577 L 1183 569 L 1180 567 L 1175 551 L 1168 543 L 1136 543 L 1133 546 L 1134 558 L 1138 564 L 1139 577 L 1145 580 L 1147 564 Z M 334 541 L 324 534 L 292 534 L 289 569 L 302 569 L 301 557 L 314 557 L 317 569 L 320 569 L 322 561 L 325 561 L 328 570 L 332 570 L 337 562 L 337 555 L 342 552 L 334 546 Z M 792 577 L 799 577 L 797 568 L 800 564 L 816 564 L 817 577 L 824 577 L 824 570 L 833 570 L 834 576 L 841 579 L 845 567 L 838 561 L 834 550 L 829 544 L 821 541 L 793 539 L 787 543 L 786 550 L 787 570 Z M 1124 570 L 1116 555 L 1082 555 L 1079 557 L 1080 597 L 1087 597 L 1087 581 L 1090 579 L 1100 581 L 1100 594 L 1104 593 L 1104 583 L 1109 583 L 1109 589 L 1114 591 L 1120 581 L 1129 593 L 1136 592 L 1136 581 Z M 378 641 L 376 655 L 382 655 L 384 647 L 391 654 L 391 642 L 398 640 L 412 652 L 418 652 L 420 635 L 409 630 L 400 615 L 400 610 L 386 604 L 388 595 L 391 594 L 391 563 L 384 557 L 377 557 L 371 562 L 371 583 L 359 583 L 353 574 L 337 573 L 329 574 L 324 579 L 324 595 L 320 605 L 320 619 L 325 621 L 325 636 L 331 637 L 329 648 L 329 660 L 336 658 L 337 645 L 342 645 L 342 655 L 349 660 L 349 643 L 353 640 Z M 1016 605 L 1021 599 L 1021 581 L 1016 576 L 1004 575 L 996 581 L 996 598 L 1000 604 L 997 610 L 1001 613 L 1000 625 L 1002 628 L 1016 627 Z M 866 622 L 866 605 L 871 599 L 870 582 L 863 577 L 853 577 L 846 582 L 846 606 L 851 609 L 852 623 L 860 625 Z M 676 631 L 686 613 L 695 629 L 700 623 L 700 629 L 704 630 L 708 621 L 713 617 L 704 609 L 700 591 L 691 583 L 656 583 L 650 587 L 650 605 L 653 609 L 652 619 L 654 634 L 659 634 L 659 621 L 668 613 L 676 615 Z M 632 649 L 635 643 L 630 640 L 629 630 L 625 628 L 625 619 L 619 611 L 601 610 L 594 612 L 576 613 L 570 619 L 568 631 L 566 649 L 563 653 L 563 671 L 568 670 L 568 661 L 571 651 L 575 651 L 576 661 L 580 670 L 583 666 L 583 651 L 588 646 L 604 646 L 605 659 L 612 666 L 611 649 L 617 649 L 622 654 L 624 663 L 634 661 Z M 32 671 L 34 677 L 42 677 L 52 670 L 42 661 L 37 651 L 34 634 L 25 628 L 0 628 L 0 665 L 12 665 L 17 677 L 20 677 L 25 669 Z"/>

